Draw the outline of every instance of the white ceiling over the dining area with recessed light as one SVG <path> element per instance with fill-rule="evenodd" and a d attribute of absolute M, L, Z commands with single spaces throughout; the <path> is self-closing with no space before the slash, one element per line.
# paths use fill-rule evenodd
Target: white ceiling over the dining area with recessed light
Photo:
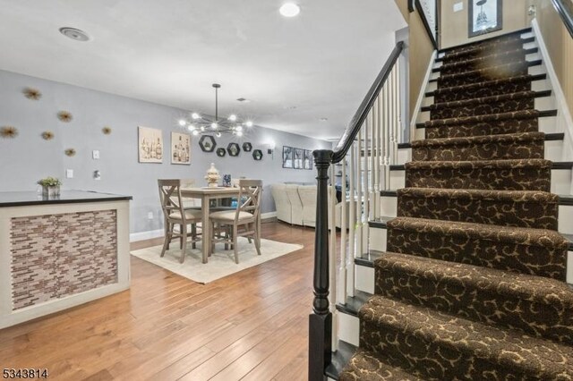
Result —
<path fill-rule="evenodd" d="M 0 0 L 0 69 L 203 114 L 218 82 L 219 114 L 337 138 L 406 23 L 394 0 L 284 2 Z"/>

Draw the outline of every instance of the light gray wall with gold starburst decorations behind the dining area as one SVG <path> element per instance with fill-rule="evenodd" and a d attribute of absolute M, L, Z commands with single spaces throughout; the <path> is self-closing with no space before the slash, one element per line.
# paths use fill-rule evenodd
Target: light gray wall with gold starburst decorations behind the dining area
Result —
<path fill-rule="evenodd" d="M 42 97 L 30 100 L 22 89 L 39 89 Z M 73 114 L 71 123 L 62 123 L 56 114 L 66 110 Z M 13 72 L 0 71 L 0 126 L 13 125 L 19 131 L 15 139 L 0 139 L 0 191 L 37 190 L 36 182 L 55 176 L 64 182 L 64 190 L 97 190 L 132 195 L 131 232 L 160 229 L 163 221 L 158 201 L 158 178 L 191 178 L 206 185 L 203 176 L 210 163 L 220 174 L 234 178 L 260 178 L 265 184 L 262 212 L 275 210 L 269 185 L 274 182 L 315 182 L 315 170 L 282 168 L 282 146 L 317 149 L 330 143 L 300 135 L 253 127 L 239 143 L 250 141 L 253 149 L 263 151 L 261 161 L 241 152 L 239 157 L 217 157 L 204 153 L 196 137 L 192 138 L 191 165 L 170 164 L 170 131 L 180 131 L 177 121 L 185 110 L 160 106 L 137 99 L 118 97 L 50 80 L 41 80 Z M 101 129 L 110 126 L 112 133 Z M 138 163 L 138 126 L 163 130 L 163 164 Z M 53 140 L 43 140 L 42 131 L 53 131 Z M 230 136 L 216 138 L 218 147 L 227 147 Z M 276 142 L 274 157 L 267 154 L 269 141 Z M 66 157 L 64 150 L 74 148 L 75 157 Z M 91 152 L 98 149 L 100 159 Z M 65 169 L 73 169 L 73 179 L 65 178 Z M 92 178 L 101 172 L 101 180 Z M 154 218 L 148 219 L 153 212 Z"/>

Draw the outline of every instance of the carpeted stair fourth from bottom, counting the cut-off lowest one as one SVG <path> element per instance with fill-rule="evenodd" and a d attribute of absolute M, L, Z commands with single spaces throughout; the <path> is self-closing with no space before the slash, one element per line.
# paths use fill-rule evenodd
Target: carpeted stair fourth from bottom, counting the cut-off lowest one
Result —
<path fill-rule="evenodd" d="M 569 241 L 552 230 L 412 217 L 387 226 L 392 252 L 565 280 Z"/>

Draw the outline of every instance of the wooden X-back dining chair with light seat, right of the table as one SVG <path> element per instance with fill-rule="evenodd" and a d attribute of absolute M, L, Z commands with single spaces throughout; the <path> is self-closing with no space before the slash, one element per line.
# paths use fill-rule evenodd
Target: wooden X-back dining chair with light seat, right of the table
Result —
<path fill-rule="evenodd" d="M 239 263 L 237 238 L 246 237 L 254 241 L 257 254 L 261 255 L 261 180 L 239 180 L 238 206 L 231 211 L 218 211 L 210 214 L 211 247 L 215 243 L 231 244 L 235 252 L 235 263 Z M 225 235 L 220 232 L 226 232 Z"/>

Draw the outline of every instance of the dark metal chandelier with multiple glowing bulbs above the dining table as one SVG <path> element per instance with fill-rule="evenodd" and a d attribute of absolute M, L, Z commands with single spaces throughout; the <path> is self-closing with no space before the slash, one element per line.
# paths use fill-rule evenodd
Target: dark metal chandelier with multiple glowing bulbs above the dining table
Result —
<path fill-rule="evenodd" d="M 193 135 L 204 135 L 214 133 L 218 138 L 223 133 L 229 133 L 236 136 L 243 136 L 245 127 L 252 127 L 252 121 L 242 121 L 235 114 L 230 114 L 227 119 L 218 119 L 218 89 L 221 85 L 212 84 L 215 88 L 215 119 L 210 119 L 201 114 L 192 113 L 191 119 L 181 119 L 179 125 L 187 127 Z"/>

